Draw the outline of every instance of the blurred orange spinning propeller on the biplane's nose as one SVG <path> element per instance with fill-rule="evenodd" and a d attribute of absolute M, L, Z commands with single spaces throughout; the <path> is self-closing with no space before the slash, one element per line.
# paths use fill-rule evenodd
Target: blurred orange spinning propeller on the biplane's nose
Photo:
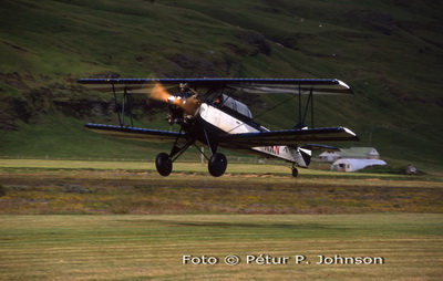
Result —
<path fill-rule="evenodd" d="M 165 102 L 169 105 L 176 105 L 188 115 L 194 115 L 199 104 L 197 94 L 194 93 L 187 96 L 187 94 L 178 93 L 173 95 L 161 83 L 156 83 L 152 89 L 151 98 Z"/>

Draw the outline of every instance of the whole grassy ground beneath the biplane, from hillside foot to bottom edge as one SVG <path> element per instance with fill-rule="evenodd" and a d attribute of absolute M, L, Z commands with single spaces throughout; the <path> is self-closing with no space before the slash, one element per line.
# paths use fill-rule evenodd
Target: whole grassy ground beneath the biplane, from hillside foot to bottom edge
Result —
<path fill-rule="evenodd" d="M 440 280 L 437 177 L 0 160 L 0 280 Z"/>

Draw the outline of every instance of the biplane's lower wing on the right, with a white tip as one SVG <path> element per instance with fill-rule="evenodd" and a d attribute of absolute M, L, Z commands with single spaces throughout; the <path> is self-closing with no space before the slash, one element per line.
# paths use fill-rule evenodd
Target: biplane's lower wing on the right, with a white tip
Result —
<path fill-rule="evenodd" d="M 256 147 L 275 145 L 305 145 L 317 142 L 359 140 L 358 136 L 346 127 L 324 127 L 307 129 L 285 129 L 256 133 L 241 133 L 222 136 L 220 144 L 230 147 Z"/>

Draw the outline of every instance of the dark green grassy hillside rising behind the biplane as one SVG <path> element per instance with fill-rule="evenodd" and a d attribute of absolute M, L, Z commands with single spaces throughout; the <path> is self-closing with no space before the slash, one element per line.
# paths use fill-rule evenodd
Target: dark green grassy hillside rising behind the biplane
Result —
<path fill-rule="evenodd" d="M 362 140 L 342 145 L 375 146 L 388 162 L 441 169 L 442 8 L 436 0 L 3 0 L 0 156 L 150 158 L 159 149 L 84 131 L 86 121 L 116 121 L 111 96 L 80 87 L 80 77 L 337 77 L 356 96 L 316 100 L 315 125 L 350 127 Z M 287 97 L 274 98 L 254 113 Z M 138 124 L 168 127 L 158 104 L 138 102 Z M 259 121 L 293 126 L 295 108 L 286 103 Z"/>

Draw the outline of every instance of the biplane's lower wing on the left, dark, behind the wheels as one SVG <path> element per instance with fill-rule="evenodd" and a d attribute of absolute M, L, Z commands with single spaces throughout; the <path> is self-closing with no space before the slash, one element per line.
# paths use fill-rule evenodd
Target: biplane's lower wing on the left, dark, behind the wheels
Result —
<path fill-rule="evenodd" d="M 122 127 L 93 123 L 85 124 L 84 126 L 95 133 L 150 143 L 174 143 L 177 138 L 186 138 L 186 134 L 184 133 L 161 129 Z"/>

